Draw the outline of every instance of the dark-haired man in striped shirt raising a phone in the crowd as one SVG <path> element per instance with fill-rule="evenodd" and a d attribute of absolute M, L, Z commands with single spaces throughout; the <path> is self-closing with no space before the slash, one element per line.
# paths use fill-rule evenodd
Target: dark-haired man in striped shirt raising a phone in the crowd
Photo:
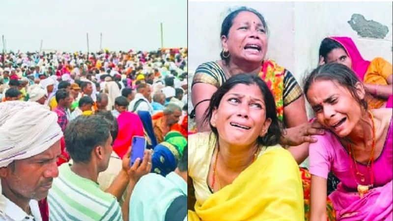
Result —
<path fill-rule="evenodd" d="M 94 128 L 92 130 L 91 128 Z M 151 153 L 144 152 L 130 167 L 130 151 L 123 157 L 122 170 L 103 192 L 97 177 L 108 168 L 112 153 L 111 123 L 103 116 L 79 116 L 64 132 L 73 164 L 59 167 L 59 177 L 48 196 L 54 220 L 128 220 L 128 204 L 139 178 L 151 170 Z M 118 199 L 127 188 L 122 208 Z"/>

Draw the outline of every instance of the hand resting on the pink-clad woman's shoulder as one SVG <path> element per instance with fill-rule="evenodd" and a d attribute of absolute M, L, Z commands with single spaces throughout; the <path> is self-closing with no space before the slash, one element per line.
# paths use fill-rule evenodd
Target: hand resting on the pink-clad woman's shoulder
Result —
<path fill-rule="evenodd" d="M 284 129 L 280 144 L 285 146 L 298 146 L 305 142 L 315 143 L 316 138 L 312 135 L 322 135 L 325 133 L 323 126 L 314 121 L 312 123 L 303 123 L 298 126 Z"/>

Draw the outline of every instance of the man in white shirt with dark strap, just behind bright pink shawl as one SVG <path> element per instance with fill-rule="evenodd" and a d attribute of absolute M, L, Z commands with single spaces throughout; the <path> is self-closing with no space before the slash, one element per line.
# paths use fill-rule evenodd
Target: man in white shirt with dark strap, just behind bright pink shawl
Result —
<path fill-rule="evenodd" d="M 137 94 L 128 106 L 128 111 L 136 112 L 139 110 L 148 111 L 153 115 L 153 107 L 151 106 L 151 88 L 148 84 L 141 83 L 137 87 Z"/>

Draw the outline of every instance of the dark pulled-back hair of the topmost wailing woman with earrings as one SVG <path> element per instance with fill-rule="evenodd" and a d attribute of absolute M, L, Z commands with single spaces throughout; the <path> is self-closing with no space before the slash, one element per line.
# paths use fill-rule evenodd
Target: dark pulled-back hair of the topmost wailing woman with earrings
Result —
<path fill-rule="evenodd" d="M 263 15 L 261 13 L 259 13 L 258 11 L 256 11 L 253 8 L 248 8 L 246 6 L 242 6 L 239 7 L 238 9 L 230 12 L 224 19 L 223 23 L 221 24 L 221 32 L 220 32 L 220 38 L 222 36 L 225 36 L 226 38 L 228 38 L 228 33 L 229 33 L 229 29 L 232 27 L 233 25 L 233 20 L 236 18 L 236 16 L 240 13 L 240 12 L 244 12 L 244 11 L 248 11 L 248 12 L 252 12 L 254 13 L 262 22 L 263 27 L 265 28 L 266 34 L 268 33 L 268 28 L 267 28 L 267 24 L 265 21 L 265 18 L 263 17 Z M 229 62 L 230 56 L 229 57 L 224 57 L 224 51 L 220 52 L 220 57 L 222 60 L 225 61 L 225 63 Z"/>

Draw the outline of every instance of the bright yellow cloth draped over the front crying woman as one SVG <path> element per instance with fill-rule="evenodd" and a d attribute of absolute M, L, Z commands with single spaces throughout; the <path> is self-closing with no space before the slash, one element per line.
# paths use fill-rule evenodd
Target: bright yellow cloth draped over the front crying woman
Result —
<path fill-rule="evenodd" d="M 188 211 L 188 220 L 304 221 L 298 165 L 282 147 L 267 147 L 232 184 L 211 194 L 203 203 L 197 198 L 195 212 Z"/>

